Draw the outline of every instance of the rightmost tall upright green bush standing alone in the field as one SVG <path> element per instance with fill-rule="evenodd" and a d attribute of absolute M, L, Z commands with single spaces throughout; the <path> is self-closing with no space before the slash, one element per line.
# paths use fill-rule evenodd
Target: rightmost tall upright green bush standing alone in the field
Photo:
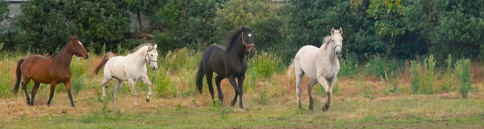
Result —
<path fill-rule="evenodd" d="M 456 76 L 461 86 L 461 95 L 463 98 L 469 96 L 472 85 L 471 61 L 469 59 L 459 60 L 456 63 Z"/>

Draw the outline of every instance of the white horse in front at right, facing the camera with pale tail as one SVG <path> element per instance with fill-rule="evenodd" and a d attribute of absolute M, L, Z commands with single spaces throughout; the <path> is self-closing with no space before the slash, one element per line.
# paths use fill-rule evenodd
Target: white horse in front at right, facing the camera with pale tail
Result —
<path fill-rule="evenodd" d="M 306 74 L 311 78 L 307 92 L 309 94 L 309 110 L 313 110 L 313 100 L 311 95 L 311 89 L 316 83 L 320 83 L 328 98 L 326 104 L 324 104 L 323 111 L 329 110 L 331 103 L 331 94 L 333 92 L 333 86 L 336 82 L 336 75 L 339 71 L 339 60 L 341 58 L 341 45 L 343 38 L 339 30 L 331 29 L 331 36 L 326 36 L 323 40 L 323 44 L 320 48 L 314 46 L 304 46 L 296 54 L 292 64 L 287 70 L 287 77 L 289 83 L 293 84 L 294 76 L 296 78 L 296 94 L 297 94 L 297 106 L 301 107 L 301 83 L 302 76 Z M 329 85 L 328 85 L 329 82 Z"/>

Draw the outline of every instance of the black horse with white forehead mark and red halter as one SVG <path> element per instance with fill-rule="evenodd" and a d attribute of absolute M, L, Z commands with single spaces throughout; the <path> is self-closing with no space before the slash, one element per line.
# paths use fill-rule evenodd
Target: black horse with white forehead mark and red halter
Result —
<path fill-rule="evenodd" d="M 200 93 L 202 93 L 202 81 L 204 75 L 207 76 L 207 84 L 209 85 L 210 95 L 215 103 L 214 87 L 212 85 L 212 75 L 217 73 L 215 77 L 215 84 L 219 93 L 219 100 L 224 102 L 224 94 L 220 88 L 222 79 L 227 78 L 234 87 L 235 96 L 231 101 L 231 106 L 240 98 L 239 107 L 243 109 L 242 104 L 242 85 L 245 78 L 245 70 L 247 70 L 247 60 L 245 54 L 250 55 L 255 53 L 254 36 L 252 29 L 242 26 L 242 29 L 235 31 L 229 38 L 227 46 L 211 45 L 207 47 L 202 56 L 202 62 L 199 65 L 197 72 L 196 85 Z M 238 79 L 238 82 L 236 82 Z"/>

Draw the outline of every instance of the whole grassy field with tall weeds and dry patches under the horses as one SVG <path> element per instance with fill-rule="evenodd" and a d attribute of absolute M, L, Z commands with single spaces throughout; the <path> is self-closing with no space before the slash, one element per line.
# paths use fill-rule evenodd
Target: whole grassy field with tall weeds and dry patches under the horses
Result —
<path fill-rule="evenodd" d="M 339 78 L 331 108 L 320 109 L 326 100 L 323 88 L 313 89 L 315 111 L 299 110 L 296 105 L 295 86 L 288 85 L 283 75 L 285 66 L 280 59 L 266 53 L 256 57 L 250 64 L 244 85 L 243 102 L 246 109 L 230 107 L 228 101 L 214 105 L 207 85 L 204 93 L 195 90 L 194 76 L 200 53 L 182 49 L 159 57 L 160 69 L 149 70 L 154 84 L 152 101 L 144 101 L 147 87 L 137 82 L 139 105 L 133 105 L 133 97 L 127 83 L 123 83 L 116 100 L 112 103 L 112 81 L 108 88 L 108 102 L 100 102 L 102 76 L 91 73 L 100 61 L 99 56 L 88 60 L 74 58 L 72 61 L 75 108 L 62 84 L 57 85 L 50 107 L 48 86 L 42 84 L 36 97 L 36 106 L 25 104 L 23 92 L 14 97 L 14 68 L 21 54 L 11 54 L 0 59 L 0 128 L 482 128 L 484 127 L 484 68 L 472 64 L 473 90 L 463 99 L 454 88 L 432 94 L 412 94 L 410 67 L 400 68 L 399 74 L 377 77 L 365 74 L 365 66 L 351 75 Z M 377 62 L 377 61 L 375 61 Z M 250 65 L 249 64 L 249 65 Z M 408 63 L 403 63 L 408 64 Z M 275 67 L 271 67 L 275 66 Z M 398 66 L 398 65 L 396 65 Z M 264 68 L 260 68 L 264 67 Z M 269 69 L 269 71 L 267 70 Z M 385 72 L 385 74 L 387 74 Z M 390 74 L 390 73 L 389 73 Z M 102 73 L 100 73 L 102 75 Z M 437 74 L 435 85 L 445 83 Z M 390 77 L 388 77 L 390 76 Z M 395 77 L 394 77 L 395 76 Z M 75 84 L 74 84 L 75 82 Z M 308 96 L 303 81 L 302 104 L 307 109 Z M 29 84 L 30 91 L 32 84 Z M 222 81 L 225 98 L 232 98 L 234 91 L 225 79 Z M 30 93 L 29 93 L 30 95 Z M 229 100 L 229 99 L 226 99 Z"/>

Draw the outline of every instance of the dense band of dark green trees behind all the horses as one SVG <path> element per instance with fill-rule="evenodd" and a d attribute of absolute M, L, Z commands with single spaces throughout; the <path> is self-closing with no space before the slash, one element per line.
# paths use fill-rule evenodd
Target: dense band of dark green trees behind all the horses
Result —
<path fill-rule="evenodd" d="M 96 53 L 104 44 L 134 46 L 123 35 L 128 13 L 140 11 L 164 53 L 225 44 L 230 31 L 248 25 L 258 50 L 288 62 L 298 48 L 319 46 L 331 28 L 341 27 L 344 55 L 360 60 L 377 54 L 484 60 L 483 0 L 28 0 L 21 7 L 13 26 L 1 28 L 11 30 L 0 35 L 4 49 L 53 53 L 71 34 Z M 9 20 L 3 10 L 0 20 Z"/>

